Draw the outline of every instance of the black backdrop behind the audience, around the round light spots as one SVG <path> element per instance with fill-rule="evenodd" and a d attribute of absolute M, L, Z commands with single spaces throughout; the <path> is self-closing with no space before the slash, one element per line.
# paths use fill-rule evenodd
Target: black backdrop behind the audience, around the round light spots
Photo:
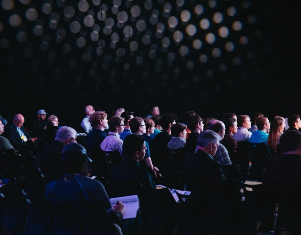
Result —
<path fill-rule="evenodd" d="M 224 112 L 249 116 L 263 112 L 269 118 L 300 114 L 300 13 L 296 3 L 182 1 L 177 6 L 180 0 L 99 2 L 88 1 L 89 9 L 82 12 L 79 1 L 0 0 L 0 114 L 8 122 L 21 113 L 28 127 L 37 110 L 45 109 L 59 118 L 60 125 L 82 132 L 80 123 L 86 105 L 105 110 L 108 116 L 124 107 L 142 117 L 158 105 L 161 114 L 173 112 L 180 121 L 187 110 L 202 118 L 221 118 Z M 169 13 L 164 13 L 169 9 L 166 3 L 172 7 Z M 141 10 L 137 17 L 131 15 L 134 5 Z M 202 14 L 195 13 L 196 5 L 203 7 Z M 49 6 L 51 12 L 47 11 Z M 66 6 L 74 9 L 71 18 L 66 17 Z M 236 9 L 234 16 L 227 14 L 230 6 Z M 28 12 L 30 8 L 36 13 L 32 9 Z M 111 30 L 119 35 L 115 44 L 112 33 L 103 31 L 106 23 L 98 18 L 101 10 L 106 18 L 114 20 Z M 188 22 L 181 20 L 184 10 L 191 13 Z M 117 24 L 116 13 L 121 11 L 128 19 Z M 219 24 L 213 21 L 216 12 L 223 15 Z M 12 25 L 13 14 L 19 15 L 21 24 Z M 84 24 L 87 15 L 94 18 L 98 29 Z M 156 15 L 157 22 L 153 23 L 152 15 Z M 178 21 L 174 29 L 168 27 L 170 16 Z M 250 17 L 255 20 L 250 21 Z M 208 29 L 200 27 L 203 18 L 210 22 Z M 139 20 L 145 22 L 145 30 L 136 28 Z M 81 25 L 77 33 L 70 30 L 73 21 Z M 239 31 L 232 28 L 235 21 L 242 24 Z M 161 36 L 156 34 L 158 23 L 165 26 Z M 196 27 L 192 36 L 185 31 L 189 24 Z M 37 25 L 43 28 L 38 35 L 34 31 Z M 129 39 L 123 32 L 125 26 L 133 29 Z M 221 26 L 229 29 L 226 38 L 218 34 Z M 93 41 L 90 34 L 95 29 L 99 38 Z M 182 32 L 180 42 L 173 39 L 175 30 Z M 207 33 L 215 35 L 213 44 L 206 42 Z M 242 36 L 248 39 L 246 44 L 240 43 Z M 79 37 L 86 41 L 83 47 L 77 45 Z M 164 37 L 170 43 L 162 49 Z M 149 41 L 146 44 L 145 39 Z M 202 42 L 198 50 L 192 45 L 195 39 Z M 138 50 L 131 50 L 132 41 L 137 42 Z M 227 42 L 233 43 L 233 51 L 225 49 Z M 187 55 L 180 55 L 182 46 L 188 49 Z M 212 55 L 215 48 L 221 52 L 218 58 Z M 200 55 L 207 56 L 206 63 L 200 61 Z"/>

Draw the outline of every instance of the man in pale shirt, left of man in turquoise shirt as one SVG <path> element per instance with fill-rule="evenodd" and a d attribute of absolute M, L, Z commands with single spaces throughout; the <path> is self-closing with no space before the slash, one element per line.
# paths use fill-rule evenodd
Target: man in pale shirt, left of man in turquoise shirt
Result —
<path fill-rule="evenodd" d="M 248 131 L 248 129 L 251 128 L 250 117 L 243 114 L 238 115 L 237 126 L 238 126 L 237 133 L 233 135 L 233 138 L 235 138 L 236 142 L 246 141 L 246 140 L 249 141 L 252 135 L 252 132 Z"/>

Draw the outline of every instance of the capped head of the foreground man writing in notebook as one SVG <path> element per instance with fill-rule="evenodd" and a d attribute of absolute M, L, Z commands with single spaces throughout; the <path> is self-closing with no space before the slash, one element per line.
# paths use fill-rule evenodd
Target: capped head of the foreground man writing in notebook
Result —
<path fill-rule="evenodd" d="M 65 174 L 87 175 L 88 157 L 84 146 L 70 143 L 62 150 L 61 170 Z"/>

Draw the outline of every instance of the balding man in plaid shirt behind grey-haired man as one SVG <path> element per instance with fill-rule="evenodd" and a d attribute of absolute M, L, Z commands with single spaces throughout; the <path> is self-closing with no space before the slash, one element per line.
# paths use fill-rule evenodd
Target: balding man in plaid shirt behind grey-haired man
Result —
<path fill-rule="evenodd" d="M 220 136 L 221 140 L 224 138 L 226 128 L 222 121 L 212 120 L 208 123 L 207 129 L 215 131 Z M 228 150 L 221 143 L 217 146 L 217 151 L 214 154 L 213 159 L 217 160 L 222 165 L 232 165 Z"/>

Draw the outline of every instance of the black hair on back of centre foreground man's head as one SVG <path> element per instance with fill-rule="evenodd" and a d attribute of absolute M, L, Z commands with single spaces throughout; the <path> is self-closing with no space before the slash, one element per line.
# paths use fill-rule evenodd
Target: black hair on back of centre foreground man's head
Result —
<path fill-rule="evenodd" d="M 144 143 L 144 137 L 142 135 L 131 134 L 124 138 L 123 151 L 124 155 L 128 158 L 132 158 L 136 151 L 141 151 Z"/>

